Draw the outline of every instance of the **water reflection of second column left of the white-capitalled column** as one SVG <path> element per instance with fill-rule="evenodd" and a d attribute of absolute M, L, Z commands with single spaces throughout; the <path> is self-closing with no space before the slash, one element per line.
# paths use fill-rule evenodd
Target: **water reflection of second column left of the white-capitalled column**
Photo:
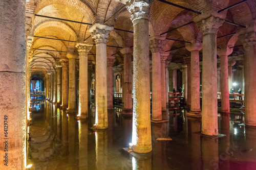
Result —
<path fill-rule="evenodd" d="M 76 120 L 76 115 L 69 114 L 69 164 L 74 165 L 76 163 L 77 152 L 77 133 L 78 133 L 78 124 Z"/>

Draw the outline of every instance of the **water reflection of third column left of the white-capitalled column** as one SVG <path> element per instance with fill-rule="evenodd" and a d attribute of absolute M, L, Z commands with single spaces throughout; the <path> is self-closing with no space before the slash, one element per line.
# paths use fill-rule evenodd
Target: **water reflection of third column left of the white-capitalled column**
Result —
<path fill-rule="evenodd" d="M 67 112 L 65 110 L 62 110 L 61 122 L 62 155 L 65 156 L 69 152 L 69 122 Z"/>

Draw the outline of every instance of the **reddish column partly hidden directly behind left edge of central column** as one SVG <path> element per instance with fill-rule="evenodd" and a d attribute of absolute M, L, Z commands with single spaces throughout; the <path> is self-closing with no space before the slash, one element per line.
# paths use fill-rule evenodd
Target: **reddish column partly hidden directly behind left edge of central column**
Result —
<path fill-rule="evenodd" d="M 132 114 L 133 112 L 133 100 L 132 100 L 132 52 L 130 47 L 124 47 L 120 50 L 123 54 L 123 69 L 124 69 L 124 112 L 125 114 Z"/>

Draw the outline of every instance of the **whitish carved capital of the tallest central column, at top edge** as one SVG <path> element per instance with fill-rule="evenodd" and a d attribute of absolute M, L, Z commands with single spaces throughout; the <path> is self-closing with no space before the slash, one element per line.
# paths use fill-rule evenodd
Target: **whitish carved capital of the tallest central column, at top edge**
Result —
<path fill-rule="evenodd" d="M 150 8 L 153 0 L 130 0 L 126 3 L 127 10 L 131 12 L 132 21 L 136 19 L 149 19 L 150 18 Z"/>

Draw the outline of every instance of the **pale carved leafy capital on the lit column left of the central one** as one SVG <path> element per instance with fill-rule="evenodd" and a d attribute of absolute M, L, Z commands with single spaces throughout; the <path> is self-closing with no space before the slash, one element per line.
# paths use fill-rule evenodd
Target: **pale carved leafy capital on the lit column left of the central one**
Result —
<path fill-rule="evenodd" d="M 109 41 L 110 32 L 114 27 L 106 26 L 100 23 L 95 23 L 89 31 L 92 34 L 92 38 L 96 43 L 107 43 Z"/>

